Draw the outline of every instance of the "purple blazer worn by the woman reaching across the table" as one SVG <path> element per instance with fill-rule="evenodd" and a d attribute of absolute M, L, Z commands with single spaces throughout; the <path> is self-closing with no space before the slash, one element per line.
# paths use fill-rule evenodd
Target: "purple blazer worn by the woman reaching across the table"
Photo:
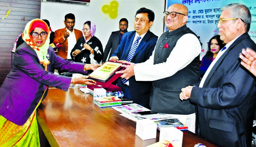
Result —
<path fill-rule="evenodd" d="M 41 97 L 43 96 L 43 99 L 46 97 L 47 86 L 68 90 L 71 77 L 53 74 L 54 68 L 76 73 L 84 72 L 84 64 L 55 55 L 52 47 L 48 49 L 47 58 L 50 64 L 48 71 L 45 71 L 30 46 L 23 43 L 16 49 L 13 69 L 0 87 L 0 115 L 15 124 L 24 124 Z"/>

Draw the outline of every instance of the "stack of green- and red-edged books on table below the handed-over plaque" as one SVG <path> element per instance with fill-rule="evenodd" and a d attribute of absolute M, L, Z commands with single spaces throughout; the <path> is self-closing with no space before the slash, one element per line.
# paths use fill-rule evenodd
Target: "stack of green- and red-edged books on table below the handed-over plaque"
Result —
<path fill-rule="evenodd" d="M 110 107 L 122 105 L 121 99 L 115 96 L 109 97 L 96 97 L 94 98 L 94 103 L 99 107 Z"/>

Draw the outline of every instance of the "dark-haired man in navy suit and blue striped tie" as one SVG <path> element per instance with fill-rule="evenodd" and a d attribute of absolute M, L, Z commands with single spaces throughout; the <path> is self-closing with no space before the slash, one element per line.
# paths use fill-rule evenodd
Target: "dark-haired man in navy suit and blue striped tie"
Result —
<path fill-rule="evenodd" d="M 135 31 L 127 32 L 123 35 L 118 48 L 112 54 L 110 60 L 127 60 L 128 54 L 132 50 L 137 38 L 141 39 L 138 40 L 138 47 L 130 62 L 141 63 L 149 59 L 157 42 L 157 36 L 149 30 L 153 25 L 154 18 L 155 14 L 152 10 L 146 8 L 139 9 L 135 15 Z M 152 82 L 139 82 L 134 77 L 131 77 L 125 84 L 121 78 L 118 79 L 117 83 L 122 88 L 125 98 L 132 99 L 134 103 L 149 108 Z"/>

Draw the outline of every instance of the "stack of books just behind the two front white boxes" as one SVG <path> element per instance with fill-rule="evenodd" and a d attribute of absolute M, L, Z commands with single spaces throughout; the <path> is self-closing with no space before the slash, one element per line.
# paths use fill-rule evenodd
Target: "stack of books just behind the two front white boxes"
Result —
<path fill-rule="evenodd" d="M 180 122 L 180 120 L 177 118 L 163 119 L 163 120 L 158 120 L 154 122 L 157 123 L 158 130 L 160 130 L 161 127 L 175 127 L 181 131 L 188 130 L 188 127 L 182 122 Z"/>

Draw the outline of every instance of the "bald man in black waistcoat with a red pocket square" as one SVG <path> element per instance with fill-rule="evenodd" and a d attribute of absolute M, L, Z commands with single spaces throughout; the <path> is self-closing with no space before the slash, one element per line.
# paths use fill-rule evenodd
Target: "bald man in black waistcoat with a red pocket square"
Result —
<path fill-rule="evenodd" d="M 137 81 L 153 81 L 150 107 L 158 113 L 172 114 L 195 132 L 196 106 L 179 100 L 183 86 L 200 80 L 199 54 L 201 44 L 196 34 L 187 28 L 188 10 L 185 5 L 172 4 L 163 12 L 169 31 L 158 39 L 150 59 L 124 66 L 121 77 L 135 75 Z M 185 109 L 184 109 L 185 108 Z"/>

